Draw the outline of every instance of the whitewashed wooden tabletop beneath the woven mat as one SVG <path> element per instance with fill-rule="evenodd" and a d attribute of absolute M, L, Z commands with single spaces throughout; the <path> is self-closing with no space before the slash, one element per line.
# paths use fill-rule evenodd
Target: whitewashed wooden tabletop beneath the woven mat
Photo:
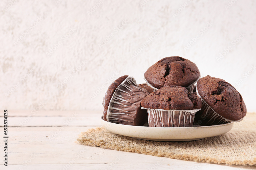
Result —
<path fill-rule="evenodd" d="M 1 123 L 3 126 L 3 115 Z M 81 132 L 101 126 L 102 111 L 8 110 L 8 167 L 0 169 L 255 169 L 160 158 L 150 155 L 83 146 Z M 3 127 L 1 127 L 3 132 Z"/>

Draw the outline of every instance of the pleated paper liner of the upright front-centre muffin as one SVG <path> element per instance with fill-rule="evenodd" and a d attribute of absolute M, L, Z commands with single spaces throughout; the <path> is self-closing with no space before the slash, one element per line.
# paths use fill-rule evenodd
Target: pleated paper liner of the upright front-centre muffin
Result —
<path fill-rule="evenodd" d="M 148 126 L 150 127 L 192 127 L 197 111 L 147 109 Z"/>

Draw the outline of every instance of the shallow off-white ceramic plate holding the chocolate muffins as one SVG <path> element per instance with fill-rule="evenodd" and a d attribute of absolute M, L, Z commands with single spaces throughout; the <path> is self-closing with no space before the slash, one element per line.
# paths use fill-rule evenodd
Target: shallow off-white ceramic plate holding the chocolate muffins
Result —
<path fill-rule="evenodd" d="M 233 127 L 234 123 L 231 122 L 222 125 L 200 127 L 147 127 L 111 123 L 104 121 L 102 116 L 101 124 L 105 129 L 112 133 L 137 139 L 189 141 L 225 134 Z"/>

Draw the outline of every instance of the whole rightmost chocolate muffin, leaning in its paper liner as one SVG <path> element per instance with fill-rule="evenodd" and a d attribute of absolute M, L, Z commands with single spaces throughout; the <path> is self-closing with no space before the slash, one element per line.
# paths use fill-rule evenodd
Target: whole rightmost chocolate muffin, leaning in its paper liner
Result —
<path fill-rule="evenodd" d="M 225 80 L 207 75 L 198 80 L 196 91 L 202 100 L 202 109 L 195 116 L 197 125 L 239 122 L 246 115 L 242 96 Z"/>

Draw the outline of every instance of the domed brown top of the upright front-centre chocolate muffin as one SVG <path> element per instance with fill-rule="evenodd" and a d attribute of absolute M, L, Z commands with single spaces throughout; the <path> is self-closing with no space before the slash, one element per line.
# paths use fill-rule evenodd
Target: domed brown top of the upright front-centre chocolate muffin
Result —
<path fill-rule="evenodd" d="M 141 106 L 147 109 L 193 110 L 202 107 L 201 99 L 190 94 L 185 87 L 165 86 L 147 95 Z"/>

